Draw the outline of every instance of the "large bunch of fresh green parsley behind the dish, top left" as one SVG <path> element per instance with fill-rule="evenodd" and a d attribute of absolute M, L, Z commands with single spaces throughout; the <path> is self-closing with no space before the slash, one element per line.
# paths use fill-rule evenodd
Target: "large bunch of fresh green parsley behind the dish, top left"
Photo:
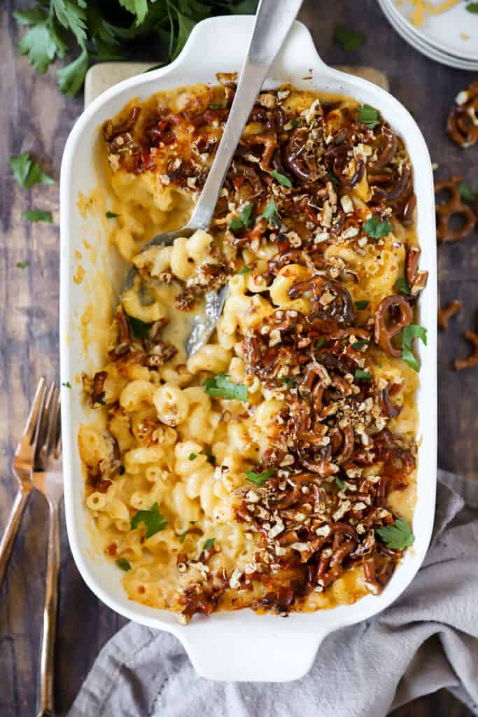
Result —
<path fill-rule="evenodd" d="M 59 89 L 72 97 L 82 87 L 92 58 L 121 60 L 121 50 L 138 37 L 159 37 L 168 45 L 167 60 L 183 49 L 196 22 L 224 14 L 253 14 L 257 0 L 37 0 L 14 12 L 26 29 L 19 52 L 44 75 L 76 43 L 79 54 L 58 70 Z"/>

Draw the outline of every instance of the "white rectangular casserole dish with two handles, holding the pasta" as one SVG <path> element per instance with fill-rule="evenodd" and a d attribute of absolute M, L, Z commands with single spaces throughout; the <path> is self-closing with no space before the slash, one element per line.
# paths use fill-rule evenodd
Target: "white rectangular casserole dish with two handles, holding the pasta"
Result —
<path fill-rule="evenodd" d="M 85 222 L 77 208 L 78 193 L 97 186 L 95 148 L 98 128 L 118 113 L 129 100 L 144 100 L 154 92 L 196 82 L 216 82 L 216 72 L 239 70 L 252 33 L 252 16 L 227 16 L 205 20 L 193 29 L 186 47 L 175 62 L 161 70 L 125 80 L 97 98 L 70 133 L 64 150 L 60 189 L 61 204 L 61 293 L 60 344 L 62 382 L 73 388 L 62 389 L 62 431 L 64 454 L 64 497 L 68 536 L 75 562 L 87 585 L 109 607 L 143 625 L 166 630 L 181 640 L 191 661 L 206 678 L 214 680 L 285 681 L 307 673 L 320 642 L 333 630 L 351 625 L 380 612 L 393 602 L 413 579 L 424 559 L 434 521 L 436 488 L 436 239 L 434 190 L 431 163 L 421 132 L 414 119 L 388 92 L 343 72 L 332 70 L 320 60 L 310 33 L 296 22 L 285 47 L 269 75 L 268 86 L 290 82 L 307 90 L 350 95 L 378 108 L 391 127 L 403 138 L 414 165 L 418 199 L 418 235 L 421 268 L 429 270 L 429 281 L 421 295 L 420 323 L 428 329 L 428 346 L 419 347 L 421 387 L 417 396 L 420 411 L 418 498 L 414 516 L 416 541 L 407 551 L 391 582 L 379 597 L 368 595 L 353 605 L 312 614 L 290 614 L 287 619 L 258 616 L 251 610 L 213 613 L 184 627 L 173 614 L 131 602 L 120 584 L 120 571 L 95 554 L 90 517 L 84 505 L 82 467 L 77 450 L 80 422 L 91 419 L 90 409 L 80 399 L 75 381 L 83 370 L 100 365 L 100 349 L 91 346 L 87 359 L 82 348 L 79 317 L 88 301 L 85 282 L 73 281 L 78 255 L 82 252 L 85 277 L 98 279 L 97 261 L 88 257 L 82 240 Z M 214 52 L 211 52 L 214 48 Z M 304 79 L 310 77 L 312 79 Z M 115 250 L 98 236 L 88 234 L 97 255 L 105 255 L 105 270 L 119 289 L 123 265 Z M 107 254 L 109 252 L 109 255 Z M 90 252 L 91 254 L 91 252 Z M 90 259 L 93 259 L 91 262 Z M 87 283 L 87 282 L 86 282 Z M 107 294 L 105 294 L 107 297 Z M 106 299 L 110 300 L 110 299 Z"/>

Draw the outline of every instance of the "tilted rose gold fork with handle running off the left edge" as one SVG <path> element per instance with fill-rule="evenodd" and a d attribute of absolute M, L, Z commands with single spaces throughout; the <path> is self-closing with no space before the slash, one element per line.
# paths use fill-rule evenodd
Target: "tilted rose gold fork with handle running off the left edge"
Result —
<path fill-rule="evenodd" d="M 14 504 L 11 506 L 3 538 L 0 543 L 0 588 L 4 580 L 6 566 L 9 564 L 11 549 L 18 531 L 21 516 L 23 516 L 30 493 L 34 488 L 32 471 L 34 462 L 34 435 L 37 422 L 41 416 L 40 409 L 44 399 L 45 382 L 39 380 L 37 391 L 30 408 L 29 417 L 24 427 L 19 445 L 16 447 L 14 462 L 11 470 L 18 481 L 19 491 L 16 493 Z"/>

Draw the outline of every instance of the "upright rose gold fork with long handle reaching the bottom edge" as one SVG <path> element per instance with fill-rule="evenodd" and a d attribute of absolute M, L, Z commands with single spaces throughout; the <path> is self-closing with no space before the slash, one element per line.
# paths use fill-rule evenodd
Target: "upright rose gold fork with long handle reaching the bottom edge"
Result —
<path fill-rule="evenodd" d="M 48 551 L 42 646 L 40 652 L 39 708 L 37 717 L 54 716 L 54 641 L 57 628 L 59 574 L 59 503 L 63 497 L 59 389 L 55 384 L 42 398 L 41 420 L 34 439 L 33 483 L 48 503 Z"/>

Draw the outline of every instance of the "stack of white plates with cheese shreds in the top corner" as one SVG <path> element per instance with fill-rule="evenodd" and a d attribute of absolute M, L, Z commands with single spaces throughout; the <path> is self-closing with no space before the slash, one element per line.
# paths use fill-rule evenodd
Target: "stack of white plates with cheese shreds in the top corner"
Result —
<path fill-rule="evenodd" d="M 478 71 L 478 14 L 462 0 L 439 15 L 424 13 L 421 27 L 411 22 L 415 6 L 410 0 L 378 0 L 383 13 L 399 35 L 431 60 L 460 70 Z M 439 6 L 443 0 L 431 0 Z"/>

